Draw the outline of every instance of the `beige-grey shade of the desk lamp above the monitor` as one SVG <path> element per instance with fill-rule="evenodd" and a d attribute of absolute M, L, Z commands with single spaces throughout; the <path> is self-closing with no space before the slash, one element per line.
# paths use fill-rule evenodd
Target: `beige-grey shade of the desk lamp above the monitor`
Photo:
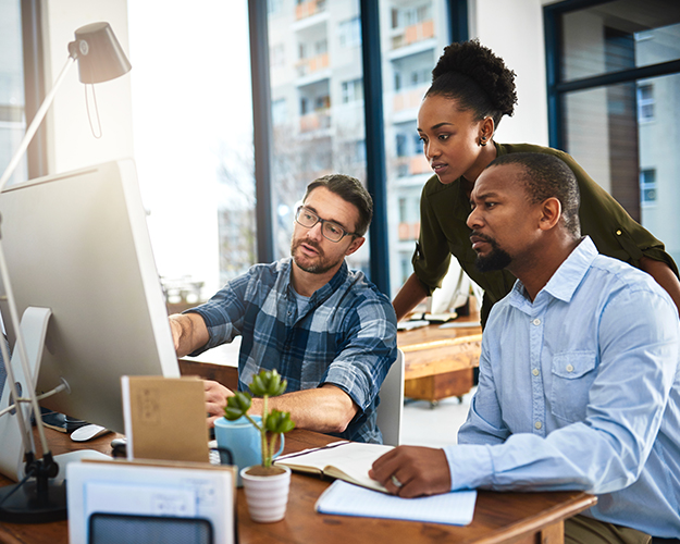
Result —
<path fill-rule="evenodd" d="M 101 83 L 126 74 L 132 69 L 109 23 L 92 23 L 75 32 L 69 44 L 71 57 L 78 61 L 82 83 Z"/>

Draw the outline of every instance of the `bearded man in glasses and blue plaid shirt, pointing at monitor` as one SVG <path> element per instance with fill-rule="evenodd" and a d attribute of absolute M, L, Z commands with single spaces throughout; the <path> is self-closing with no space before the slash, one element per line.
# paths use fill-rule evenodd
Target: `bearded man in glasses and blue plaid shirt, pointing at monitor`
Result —
<path fill-rule="evenodd" d="M 397 356 L 390 299 L 345 257 L 366 242 L 373 212 L 361 183 L 342 174 L 316 180 L 295 214 L 290 258 L 256 264 L 208 302 L 170 317 L 177 356 L 196 356 L 242 335 L 238 388 L 261 369 L 288 381 L 269 400 L 300 429 L 382 442 L 378 392 Z M 233 393 L 206 382 L 210 424 Z M 261 412 L 254 399 L 251 413 Z"/>

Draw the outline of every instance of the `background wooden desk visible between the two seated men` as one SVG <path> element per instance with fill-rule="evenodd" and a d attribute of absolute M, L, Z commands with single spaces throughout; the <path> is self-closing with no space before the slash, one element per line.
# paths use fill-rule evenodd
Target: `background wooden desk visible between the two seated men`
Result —
<path fill-rule="evenodd" d="M 404 351 L 404 396 L 429 400 L 459 399 L 472 388 L 472 369 L 479 364 L 482 329 L 479 314 L 458 318 L 454 323 L 471 326 L 440 329 L 432 324 L 397 333 Z"/>

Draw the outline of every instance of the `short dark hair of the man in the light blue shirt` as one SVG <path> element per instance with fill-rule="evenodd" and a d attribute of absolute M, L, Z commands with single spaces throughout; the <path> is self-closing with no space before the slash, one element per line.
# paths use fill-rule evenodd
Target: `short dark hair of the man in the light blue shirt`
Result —
<path fill-rule="evenodd" d="M 487 168 L 518 164 L 524 170 L 520 177 L 531 203 L 557 198 L 567 231 L 574 238 L 581 236 L 579 205 L 581 194 L 577 177 L 565 161 L 546 153 L 508 153 L 495 159 Z"/>

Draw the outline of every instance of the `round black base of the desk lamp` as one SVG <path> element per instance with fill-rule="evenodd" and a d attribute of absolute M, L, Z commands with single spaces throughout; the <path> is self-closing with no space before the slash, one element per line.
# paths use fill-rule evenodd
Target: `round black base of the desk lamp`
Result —
<path fill-rule="evenodd" d="M 38 491 L 38 482 L 30 478 L 23 485 L 0 487 L 0 521 L 9 523 L 48 523 L 66 519 L 66 484 L 47 482 L 47 490 Z"/>

